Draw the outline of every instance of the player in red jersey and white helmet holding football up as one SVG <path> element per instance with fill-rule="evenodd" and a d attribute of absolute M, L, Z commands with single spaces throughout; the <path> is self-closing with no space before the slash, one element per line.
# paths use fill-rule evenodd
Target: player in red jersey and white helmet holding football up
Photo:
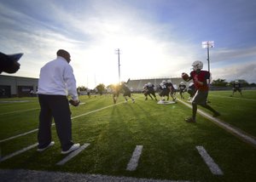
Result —
<path fill-rule="evenodd" d="M 188 79 L 193 79 L 195 84 L 196 93 L 192 100 L 192 117 L 185 119 L 186 122 L 195 122 L 195 116 L 197 112 L 197 105 L 205 107 L 207 110 L 212 111 L 212 117 L 218 117 L 220 114 L 215 111 L 210 105 L 207 105 L 207 96 L 210 83 L 210 72 L 201 71 L 203 68 L 203 63 L 200 60 L 195 60 L 192 64 L 193 71 L 190 72 L 190 77 Z"/>

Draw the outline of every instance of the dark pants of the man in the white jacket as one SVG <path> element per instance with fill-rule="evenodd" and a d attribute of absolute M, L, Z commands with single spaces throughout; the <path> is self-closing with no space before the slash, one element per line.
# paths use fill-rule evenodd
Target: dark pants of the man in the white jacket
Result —
<path fill-rule="evenodd" d="M 51 142 L 51 122 L 54 118 L 62 151 L 67 151 L 73 145 L 71 111 L 67 96 L 38 94 L 38 100 L 41 106 L 38 148 L 44 148 Z"/>

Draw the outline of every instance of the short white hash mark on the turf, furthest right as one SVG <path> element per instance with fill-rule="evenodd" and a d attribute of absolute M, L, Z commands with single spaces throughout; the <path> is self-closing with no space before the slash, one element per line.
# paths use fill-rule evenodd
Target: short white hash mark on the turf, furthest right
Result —
<path fill-rule="evenodd" d="M 203 160 L 207 163 L 208 168 L 211 170 L 211 172 L 215 175 L 223 175 L 224 173 L 222 170 L 218 167 L 218 164 L 215 163 L 211 156 L 207 153 L 205 148 L 203 146 L 195 146 Z"/>

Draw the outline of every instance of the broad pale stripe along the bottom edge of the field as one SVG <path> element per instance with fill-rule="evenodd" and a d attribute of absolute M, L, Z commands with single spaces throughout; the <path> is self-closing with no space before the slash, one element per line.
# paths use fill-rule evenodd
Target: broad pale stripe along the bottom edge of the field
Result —
<path fill-rule="evenodd" d="M 14 175 L 15 174 L 15 175 Z M 189 182 L 189 180 L 142 179 L 102 174 L 64 173 L 28 169 L 0 169 L 3 181 L 112 181 L 112 182 Z"/>

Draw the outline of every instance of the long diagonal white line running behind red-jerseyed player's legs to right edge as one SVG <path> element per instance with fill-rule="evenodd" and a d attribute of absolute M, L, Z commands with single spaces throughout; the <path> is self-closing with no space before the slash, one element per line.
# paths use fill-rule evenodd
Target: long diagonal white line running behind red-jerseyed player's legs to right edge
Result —
<path fill-rule="evenodd" d="M 181 103 L 183 103 L 183 105 L 187 105 L 190 108 L 192 108 L 192 105 L 189 105 L 188 103 L 185 103 L 182 100 L 179 100 L 179 101 Z M 215 117 L 211 117 L 209 114 L 207 114 L 204 111 L 201 111 L 201 110 L 197 110 L 197 111 L 201 114 L 201 116 L 207 117 L 210 121 L 214 122 L 215 124 L 218 124 L 218 126 L 226 129 L 227 131 L 231 132 L 232 134 L 235 134 L 236 136 L 240 137 L 241 139 L 243 139 L 247 143 L 249 143 L 249 144 L 253 145 L 254 147 L 256 147 L 256 139 L 254 139 L 253 137 L 248 136 L 247 134 L 245 134 L 245 132 L 239 131 L 238 129 L 230 126 L 230 124 L 227 124 L 227 123 L 221 121 L 220 119 L 217 119 Z"/>

